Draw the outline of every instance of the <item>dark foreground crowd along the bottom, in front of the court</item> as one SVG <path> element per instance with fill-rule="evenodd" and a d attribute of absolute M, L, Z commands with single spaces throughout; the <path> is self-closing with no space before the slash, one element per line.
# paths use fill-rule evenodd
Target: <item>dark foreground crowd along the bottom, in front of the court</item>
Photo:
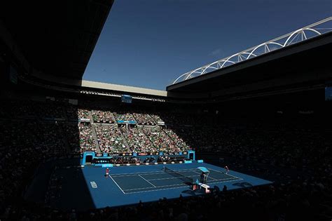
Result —
<path fill-rule="evenodd" d="M 328 178 L 331 182 L 331 178 Z M 179 196 L 177 199 L 120 208 L 102 208 L 77 212 L 27 205 L 25 210 L 7 208 L 5 220 L 23 217 L 38 220 L 331 220 L 328 203 L 331 187 L 315 180 L 293 180 L 237 191 L 213 189 L 211 194 Z M 331 204 L 330 204 L 331 205 Z M 331 208 L 330 208 L 331 209 Z"/>

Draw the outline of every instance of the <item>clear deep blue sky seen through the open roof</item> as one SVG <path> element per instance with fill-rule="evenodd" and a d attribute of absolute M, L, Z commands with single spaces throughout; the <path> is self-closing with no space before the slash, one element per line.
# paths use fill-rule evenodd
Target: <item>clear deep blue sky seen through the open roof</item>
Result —
<path fill-rule="evenodd" d="M 116 0 L 83 79 L 165 90 L 185 72 L 331 15 L 331 0 Z"/>

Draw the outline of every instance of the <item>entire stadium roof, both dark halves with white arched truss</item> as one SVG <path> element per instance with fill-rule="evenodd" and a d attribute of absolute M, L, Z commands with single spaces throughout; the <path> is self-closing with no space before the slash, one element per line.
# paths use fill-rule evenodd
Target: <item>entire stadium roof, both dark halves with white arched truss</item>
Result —
<path fill-rule="evenodd" d="M 15 42 L 7 42 L 8 48 L 14 54 L 22 53 L 29 62 L 25 74 L 41 79 L 41 82 L 160 97 L 205 99 L 240 91 L 235 87 L 256 90 L 258 87 L 254 83 L 263 82 L 261 88 L 279 86 L 280 83 L 275 81 L 265 83 L 270 79 L 281 82 L 288 78 L 293 83 L 332 80 L 328 60 L 332 51 L 332 32 L 322 34 L 324 32 L 317 26 L 331 22 L 330 17 L 282 36 L 286 37 L 286 47 L 270 47 L 282 46 L 279 42 L 282 37 L 273 39 L 249 48 L 249 52 L 242 51 L 187 72 L 182 75 L 184 81 L 167 86 L 167 91 L 82 81 L 113 0 L 60 0 L 52 4 L 50 7 L 49 1 L 14 0 L 9 1 L 6 8 L 0 8 L 0 37 L 5 37 L 4 41 L 11 39 Z M 2 32 L 4 30 L 6 34 Z M 306 31 L 319 32 L 319 35 L 310 36 Z M 293 44 L 298 36 L 301 41 Z M 262 48 L 263 53 L 259 54 Z M 244 59 L 246 55 L 247 59 Z M 238 60 L 234 62 L 231 58 Z M 20 60 L 22 66 L 25 66 L 25 59 L 23 62 Z M 316 74 L 316 70 L 319 73 Z"/>

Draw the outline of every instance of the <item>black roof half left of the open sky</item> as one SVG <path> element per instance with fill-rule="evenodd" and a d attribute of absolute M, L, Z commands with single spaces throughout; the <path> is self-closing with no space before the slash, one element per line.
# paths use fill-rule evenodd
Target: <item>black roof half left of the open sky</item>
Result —
<path fill-rule="evenodd" d="M 113 0 L 6 1 L 0 22 L 31 67 L 82 79 Z M 0 24 L 1 25 L 1 24 Z"/>

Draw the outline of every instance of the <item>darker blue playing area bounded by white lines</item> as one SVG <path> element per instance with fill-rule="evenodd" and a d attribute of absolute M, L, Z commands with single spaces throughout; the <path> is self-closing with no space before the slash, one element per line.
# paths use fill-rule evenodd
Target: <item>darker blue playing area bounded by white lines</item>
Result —
<path fill-rule="evenodd" d="M 242 180 L 234 175 L 228 175 L 221 171 L 208 168 L 210 171 L 207 182 L 209 185 L 217 184 L 219 182 L 230 182 L 235 180 Z M 191 178 L 193 181 L 200 180 L 200 170 L 197 168 L 174 170 L 179 175 L 186 178 Z M 150 192 L 161 189 L 175 189 L 181 187 L 188 187 L 190 182 L 186 182 L 184 178 L 174 176 L 172 173 L 164 171 L 152 173 L 125 173 L 117 175 L 109 175 L 115 182 L 123 194 L 134 194 L 139 192 Z"/>

